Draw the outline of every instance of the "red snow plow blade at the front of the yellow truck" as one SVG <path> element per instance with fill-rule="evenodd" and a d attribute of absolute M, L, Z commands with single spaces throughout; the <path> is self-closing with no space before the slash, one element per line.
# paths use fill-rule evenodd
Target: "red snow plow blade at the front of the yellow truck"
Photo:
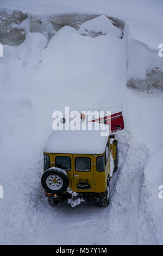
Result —
<path fill-rule="evenodd" d="M 122 112 L 118 112 L 112 115 L 106 115 L 105 117 L 92 120 L 92 122 L 99 122 L 110 125 L 110 133 L 120 131 L 124 129 L 124 121 Z"/>

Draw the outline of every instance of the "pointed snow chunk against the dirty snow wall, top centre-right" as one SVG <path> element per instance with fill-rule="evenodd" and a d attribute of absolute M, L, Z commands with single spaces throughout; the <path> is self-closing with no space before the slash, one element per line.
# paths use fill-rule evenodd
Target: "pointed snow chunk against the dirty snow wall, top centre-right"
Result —
<path fill-rule="evenodd" d="M 90 35 L 96 33 L 98 35 L 106 35 L 108 33 L 112 33 L 121 38 L 121 29 L 117 28 L 112 23 L 113 22 L 109 20 L 108 17 L 101 15 L 96 19 L 84 22 L 79 28 L 79 34 Z"/>

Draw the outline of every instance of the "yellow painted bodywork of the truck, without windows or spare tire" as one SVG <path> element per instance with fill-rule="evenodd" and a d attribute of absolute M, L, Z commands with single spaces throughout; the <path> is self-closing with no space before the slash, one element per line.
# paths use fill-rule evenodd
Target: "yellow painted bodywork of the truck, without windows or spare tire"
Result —
<path fill-rule="evenodd" d="M 70 180 L 68 187 L 70 187 L 73 191 L 76 192 L 94 192 L 94 193 L 101 193 L 106 190 L 107 179 L 110 176 L 110 153 L 112 154 L 114 160 L 116 157 L 116 146 L 110 144 L 109 142 L 109 157 L 108 161 L 106 162 L 105 170 L 103 172 L 97 171 L 96 160 L 100 155 L 90 155 L 90 154 L 59 154 L 59 153 L 44 153 L 50 157 L 50 168 L 55 167 L 55 157 L 57 156 L 69 156 L 71 157 L 71 170 L 66 171 L 68 178 Z M 82 171 L 79 172 L 75 169 L 75 158 L 78 156 L 86 156 L 90 157 L 91 159 L 91 170 L 88 172 Z M 45 170 L 43 170 L 45 172 Z M 79 184 L 79 180 L 85 181 L 88 180 L 90 188 L 87 190 L 77 188 L 77 184 Z"/>

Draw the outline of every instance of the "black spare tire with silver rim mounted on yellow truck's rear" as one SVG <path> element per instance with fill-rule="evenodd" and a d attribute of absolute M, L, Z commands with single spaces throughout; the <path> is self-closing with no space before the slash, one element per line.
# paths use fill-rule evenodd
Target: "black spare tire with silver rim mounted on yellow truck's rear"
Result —
<path fill-rule="evenodd" d="M 42 174 L 41 184 L 48 193 L 62 194 L 68 187 L 69 179 L 65 170 L 52 167 Z"/>

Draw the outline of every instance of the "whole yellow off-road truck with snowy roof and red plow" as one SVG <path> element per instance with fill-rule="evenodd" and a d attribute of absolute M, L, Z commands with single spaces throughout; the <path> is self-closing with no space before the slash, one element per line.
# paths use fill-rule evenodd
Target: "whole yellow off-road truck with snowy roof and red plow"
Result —
<path fill-rule="evenodd" d="M 117 114 L 117 119 L 111 121 L 114 132 L 124 128 L 122 113 L 119 117 Z M 72 206 L 86 197 L 98 198 L 102 207 L 108 206 L 118 168 L 114 134 L 101 136 L 99 130 L 53 131 L 43 156 L 41 184 L 50 205 L 57 205 L 63 195 Z"/>

